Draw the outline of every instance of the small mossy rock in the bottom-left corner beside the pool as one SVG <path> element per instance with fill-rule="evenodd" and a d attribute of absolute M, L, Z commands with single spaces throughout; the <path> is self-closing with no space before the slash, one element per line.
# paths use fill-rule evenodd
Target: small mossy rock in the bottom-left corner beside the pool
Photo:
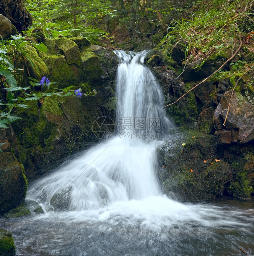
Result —
<path fill-rule="evenodd" d="M 12 233 L 10 231 L 0 229 L 0 255 L 1 256 L 14 256 L 16 249 Z"/>

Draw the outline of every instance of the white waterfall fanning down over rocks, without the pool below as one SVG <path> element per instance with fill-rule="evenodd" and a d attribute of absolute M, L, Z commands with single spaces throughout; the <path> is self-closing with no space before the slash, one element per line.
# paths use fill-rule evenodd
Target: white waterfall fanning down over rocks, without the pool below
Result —
<path fill-rule="evenodd" d="M 159 84 L 144 65 L 147 52 L 115 53 L 120 59 L 115 135 L 33 184 L 27 197 L 45 203 L 45 210 L 91 210 L 161 193 L 155 148 L 174 125 L 163 110 Z"/>

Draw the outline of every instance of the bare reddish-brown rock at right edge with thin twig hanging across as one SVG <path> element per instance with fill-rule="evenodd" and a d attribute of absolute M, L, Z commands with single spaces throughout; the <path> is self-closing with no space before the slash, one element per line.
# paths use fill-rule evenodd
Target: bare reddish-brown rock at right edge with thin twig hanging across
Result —
<path fill-rule="evenodd" d="M 214 125 L 216 130 L 223 128 L 222 123 L 224 122 L 227 115 L 227 108 L 231 94 L 232 91 L 227 91 L 223 94 L 221 102 L 214 112 Z M 225 128 L 239 129 L 237 140 L 239 143 L 246 143 L 254 139 L 253 123 L 253 105 L 246 101 L 241 94 L 234 93 L 230 103 L 229 114 L 225 123 Z"/>

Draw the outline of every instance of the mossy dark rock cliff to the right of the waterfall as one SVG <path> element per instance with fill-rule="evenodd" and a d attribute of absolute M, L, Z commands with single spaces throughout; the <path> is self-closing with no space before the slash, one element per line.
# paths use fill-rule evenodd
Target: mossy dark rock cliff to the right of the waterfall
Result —
<path fill-rule="evenodd" d="M 165 40 L 146 57 L 146 65 L 161 83 L 165 105 L 175 102 L 231 57 L 222 49 L 203 65 L 201 60 L 188 63 L 184 61 L 185 48 L 184 42 L 173 45 Z M 237 57 L 232 62 L 251 61 L 244 57 L 244 50 L 239 56 L 240 61 Z M 254 195 L 253 73 L 246 73 L 235 88 L 224 126 L 232 88 L 243 75 L 240 68 L 233 69 L 233 64 L 229 64 L 167 107 L 183 134 L 179 133 L 178 138 L 172 135 L 164 149 L 158 150 L 159 178 L 165 191 L 173 191 L 180 200 L 200 201 L 222 194 L 250 199 Z"/>

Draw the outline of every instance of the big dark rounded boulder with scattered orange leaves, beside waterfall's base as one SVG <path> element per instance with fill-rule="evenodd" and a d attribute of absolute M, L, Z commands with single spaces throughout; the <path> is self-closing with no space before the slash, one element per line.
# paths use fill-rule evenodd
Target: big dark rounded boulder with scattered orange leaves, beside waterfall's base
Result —
<path fill-rule="evenodd" d="M 221 196 L 232 172 L 223 160 L 216 162 L 216 150 L 212 135 L 194 130 L 172 133 L 158 149 L 158 174 L 166 193 L 187 202 Z"/>

